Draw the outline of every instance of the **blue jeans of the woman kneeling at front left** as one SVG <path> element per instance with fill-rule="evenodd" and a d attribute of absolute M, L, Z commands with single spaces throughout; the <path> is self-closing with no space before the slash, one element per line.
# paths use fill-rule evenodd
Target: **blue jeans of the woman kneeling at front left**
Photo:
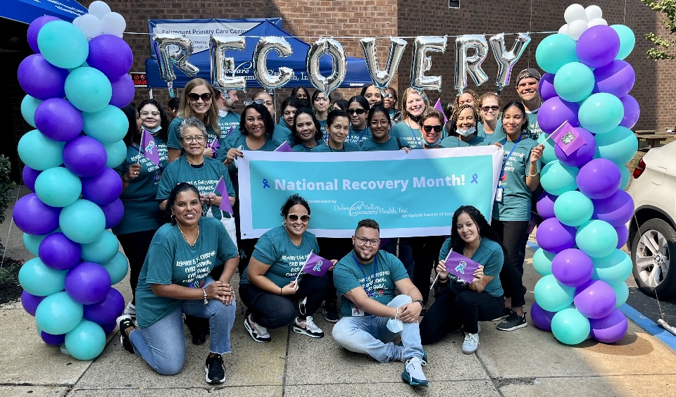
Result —
<path fill-rule="evenodd" d="M 207 278 L 205 286 L 213 279 Z M 185 360 L 185 335 L 183 331 L 183 313 L 209 319 L 209 351 L 211 353 L 230 353 L 230 332 L 237 313 L 236 304 L 225 305 L 210 299 L 183 301 L 183 304 L 166 317 L 150 327 L 134 329 L 129 339 L 134 351 L 154 370 L 163 375 L 180 372 Z"/>

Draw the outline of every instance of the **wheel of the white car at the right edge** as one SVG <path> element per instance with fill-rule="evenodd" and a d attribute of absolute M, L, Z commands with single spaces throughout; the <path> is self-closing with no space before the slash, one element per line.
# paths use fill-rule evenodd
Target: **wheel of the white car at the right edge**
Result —
<path fill-rule="evenodd" d="M 667 222 L 651 219 L 639 227 L 632 262 L 641 291 L 661 299 L 676 297 L 676 232 Z"/>

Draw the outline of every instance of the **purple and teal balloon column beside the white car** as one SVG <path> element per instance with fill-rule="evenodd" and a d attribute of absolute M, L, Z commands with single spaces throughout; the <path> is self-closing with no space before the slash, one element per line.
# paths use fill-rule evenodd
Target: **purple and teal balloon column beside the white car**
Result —
<path fill-rule="evenodd" d="M 537 118 L 545 132 L 539 142 L 546 146 L 546 165 L 537 203 L 545 220 L 537 229 L 541 248 L 533 256 L 542 279 L 531 315 L 537 327 L 570 345 L 589 336 L 617 342 L 628 327 L 618 307 L 629 294 L 625 279 L 632 261 L 619 248 L 634 211 L 624 191 L 625 163 L 638 149 L 630 128 L 639 106 L 629 94 L 634 69 L 623 61 L 634 34 L 624 25 L 607 26 L 601 16 L 597 6 L 569 6 L 568 24 L 542 40 L 535 54 L 546 71 Z M 565 121 L 584 142 L 568 154 L 549 137 Z"/>

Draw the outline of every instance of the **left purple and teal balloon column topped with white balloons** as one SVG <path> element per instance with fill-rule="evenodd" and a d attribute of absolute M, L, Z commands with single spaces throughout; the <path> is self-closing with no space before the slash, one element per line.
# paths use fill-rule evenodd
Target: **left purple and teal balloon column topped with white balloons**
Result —
<path fill-rule="evenodd" d="M 102 23 L 112 18 L 119 30 L 119 18 L 108 16 L 113 13 L 102 1 L 89 6 L 80 25 L 99 20 L 92 11 L 101 8 L 107 8 L 99 15 Z M 127 273 L 127 258 L 106 229 L 123 215 L 122 181 L 112 168 L 127 151 L 122 139 L 128 122 L 120 107 L 134 97 L 127 75 L 132 51 L 116 35 L 122 31 L 105 33 L 37 18 L 27 34 L 35 54 L 18 68 L 27 94 L 21 113 L 36 128 L 18 144 L 23 179 L 35 193 L 17 201 L 13 217 L 37 256 L 20 269 L 21 302 L 46 344 L 65 344 L 80 360 L 104 350 L 106 333 L 124 309 L 122 294 L 111 285 Z"/>

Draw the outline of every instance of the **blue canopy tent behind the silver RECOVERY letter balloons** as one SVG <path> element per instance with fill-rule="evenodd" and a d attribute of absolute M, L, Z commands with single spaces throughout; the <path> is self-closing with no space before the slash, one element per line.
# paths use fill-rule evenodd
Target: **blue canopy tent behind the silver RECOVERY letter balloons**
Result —
<path fill-rule="evenodd" d="M 226 51 L 226 56 L 234 58 L 234 64 L 237 66 L 235 75 L 244 76 L 247 88 L 261 87 L 261 85 L 258 84 L 258 81 L 256 81 L 256 78 L 253 77 L 251 61 L 253 58 L 253 49 L 256 46 L 256 43 L 258 43 L 259 37 L 263 36 L 285 37 L 294 51 L 292 55 L 287 56 L 286 58 L 280 58 L 275 51 L 270 52 L 268 56 L 268 69 L 276 71 L 277 68 L 282 66 L 292 68 L 294 70 L 294 77 L 289 84 L 287 84 L 287 87 L 296 87 L 299 85 L 311 87 L 312 84 L 308 81 L 305 64 L 310 44 L 307 44 L 296 37 L 292 37 L 291 34 L 268 21 L 260 23 L 251 30 L 242 33 L 242 36 L 251 36 L 246 37 L 246 47 L 244 48 L 244 51 Z M 202 77 L 207 81 L 210 80 L 211 64 L 209 57 L 209 51 L 202 51 L 201 53 L 196 53 L 190 57 L 190 62 L 199 68 L 199 73 L 195 77 Z M 332 65 L 333 63 L 330 56 L 325 55 L 320 58 L 320 70 L 322 75 L 330 75 L 333 67 Z M 175 72 L 176 80 L 173 82 L 174 87 L 185 87 L 185 84 L 194 78 L 188 77 L 177 68 L 175 68 Z M 149 89 L 167 87 L 167 83 L 160 77 L 156 58 L 146 59 L 146 80 L 148 81 Z M 345 80 L 340 87 L 363 87 L 365 84 L 370 83 L 371 77 L 366 68 L 366 61 L 363 58 L 347 57 L 347 73 Z"/>

